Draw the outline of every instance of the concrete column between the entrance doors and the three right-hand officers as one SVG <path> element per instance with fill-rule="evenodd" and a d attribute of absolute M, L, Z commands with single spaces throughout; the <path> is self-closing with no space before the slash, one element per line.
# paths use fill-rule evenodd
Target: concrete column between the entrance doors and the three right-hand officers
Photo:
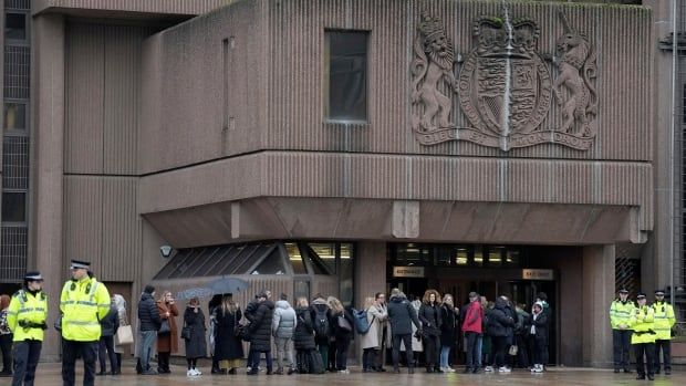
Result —
<path fill-rule="evenodd" d="M 607 310 L 614 296 L 614 246 L 583 249 L 583 282 L 579 292 L 583 296 L 584 366 L 609 367 L 612 364 L 612 330 Z"/>

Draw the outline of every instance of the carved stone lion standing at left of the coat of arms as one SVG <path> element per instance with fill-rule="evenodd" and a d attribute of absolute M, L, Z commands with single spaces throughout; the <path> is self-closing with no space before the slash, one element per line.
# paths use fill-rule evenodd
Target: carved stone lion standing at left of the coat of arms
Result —
<path fill-rule="evenodd" d="M 430 131 L 450 127 L 451 100 L 439 87 L 447 82 L 448 87 L 457 92 L 457 81 L 453 73 L 455 53 L 440 22 L 426 12 L 422 14 L 419 32 L 414 45 L 416 59 L 412 63 L 415 76 L 412 102 L 424 105 L 419 128 Z"/>

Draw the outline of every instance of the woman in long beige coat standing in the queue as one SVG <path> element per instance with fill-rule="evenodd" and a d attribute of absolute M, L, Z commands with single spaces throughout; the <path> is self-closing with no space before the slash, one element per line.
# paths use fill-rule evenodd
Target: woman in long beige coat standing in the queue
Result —
<path fill-rule="evenodd" d="M 364 302 L 364 309 L 367 312 L 367 322 L 370 331 L 361 335 L 362 371 L 363 372 L 381 372 L 382 371 L 382 348 L 384 346 L 384 328 L 387 325 L 388 312 L 386 310 L 385 295 L 377 293 L 375 298 L 367 298 Z"/>

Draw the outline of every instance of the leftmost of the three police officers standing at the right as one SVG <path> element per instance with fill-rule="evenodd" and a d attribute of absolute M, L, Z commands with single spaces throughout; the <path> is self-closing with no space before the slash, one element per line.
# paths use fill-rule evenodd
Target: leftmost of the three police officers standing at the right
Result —
<path fill-rule="evenodd" d="M 628 300 L 628 291 L 625 288 L 620 290 L 620 298 L 615 299 L 610 305 L 615 373 L 619 373 L 620 368 L 624 368 L 624 373 L 631 373 L 628 369 L 628 350 L 633 331 L 630 326 L 630 319 L 634 309 L 634 302 Z"/>

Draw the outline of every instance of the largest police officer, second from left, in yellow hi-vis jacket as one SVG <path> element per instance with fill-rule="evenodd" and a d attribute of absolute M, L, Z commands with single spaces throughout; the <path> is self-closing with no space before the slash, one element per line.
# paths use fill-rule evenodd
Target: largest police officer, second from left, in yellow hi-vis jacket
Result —
<path fill-rule="evenodd" d="M 83 358 L 83 385 L 95 382 L 95 361 L 100 343 L 100 320 L 110 312 L 110 293 L 103 283 L 89 275 L 90 262 L 72 260 L 72 280 L 64 283 L 60 296 L 62 311 L 62 382 L 74 386 L 76 356 Z"/>

